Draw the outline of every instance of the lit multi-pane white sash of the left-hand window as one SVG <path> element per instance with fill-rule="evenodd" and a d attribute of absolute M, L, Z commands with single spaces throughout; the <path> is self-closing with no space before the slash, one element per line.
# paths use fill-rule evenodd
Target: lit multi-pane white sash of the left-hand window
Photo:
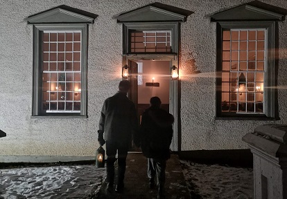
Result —
<path fill-rule="evenodd" d="M 81 31 L 42 32 L 42 111 L 80 113 Z"/>

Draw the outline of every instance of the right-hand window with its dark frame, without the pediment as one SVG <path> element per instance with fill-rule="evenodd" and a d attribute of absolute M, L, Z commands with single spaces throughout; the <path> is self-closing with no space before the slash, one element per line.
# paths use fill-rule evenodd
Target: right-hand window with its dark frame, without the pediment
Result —
<path fill-rule="evenodd" d="M 216 116 L 275 117 L 275 23 L 218 22 Z"/>

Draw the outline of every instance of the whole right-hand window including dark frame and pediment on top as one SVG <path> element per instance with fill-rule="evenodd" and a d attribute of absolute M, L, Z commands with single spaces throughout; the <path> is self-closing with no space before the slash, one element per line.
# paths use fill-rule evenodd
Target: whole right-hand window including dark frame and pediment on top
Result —
<path fill-rule="evenodd" d="M 267 4 L 266 4 L 267 5 Z M 277 120 L 278 21 L 274 6 L 245 3 L 216 22 L 216 118 Z"/>

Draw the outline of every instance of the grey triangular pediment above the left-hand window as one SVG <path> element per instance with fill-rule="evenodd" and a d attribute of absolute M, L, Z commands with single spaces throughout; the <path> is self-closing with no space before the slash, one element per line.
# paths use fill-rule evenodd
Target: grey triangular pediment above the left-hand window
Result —
<path fill-rule="evenodd" d="M 84 11 L 82 11 L 84 12 Z M 94 23 L 94 19 L 98 17 L 94 15 L 89 17 L 88 15 L 82 15 L 77 12 L 72 12 L 63 8 L 54 8 L 52 10 L 46 10 L 37 15 L 32 15 L 26 18 L 26 21 L 30 24 L 36 23 Z"/>

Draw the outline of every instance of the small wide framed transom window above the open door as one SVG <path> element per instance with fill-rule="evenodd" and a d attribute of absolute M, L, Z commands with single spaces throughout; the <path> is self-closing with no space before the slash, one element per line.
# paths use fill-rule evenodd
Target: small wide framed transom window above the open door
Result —
<path fill-rule="evenodd" d="M 178 53 L 177 23 L 125 23 L 123 55 Z"/>

